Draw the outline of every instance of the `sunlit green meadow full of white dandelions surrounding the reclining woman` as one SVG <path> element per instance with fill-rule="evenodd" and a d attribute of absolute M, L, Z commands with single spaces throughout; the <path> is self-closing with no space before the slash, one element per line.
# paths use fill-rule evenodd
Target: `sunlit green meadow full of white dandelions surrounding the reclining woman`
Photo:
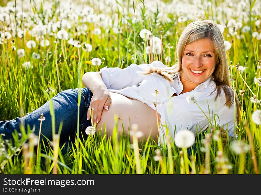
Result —
<path fill-rule="evenodd" d="M 238 140 L 229 146 L 218 133 L 200 142 L 187 131 L 162 148 L 152 139 L 139 144 L 140 131 L 133 126 L 127 137 L 115 133 L 109 140 L 87 129 L 87 140 L 77 140 L 73 152 L 62 155 L 59 134 L 44 145 L 22 128 L 15 143 L 0 135 L 1 174 L 261 173 L 261 1 L 17 0 L 0 5 L 0 121 L 22 117 L 60 91 L 83 87 L 81 77 L 88 71 L 154 60 L 173 66 L 178 37 L 197 18 L 214 20 L 224 35 L 241 114 Z M 39 120 L 44 123 L 44 116 Z M 197 152 L 188 156 L 194 141 Z"/>

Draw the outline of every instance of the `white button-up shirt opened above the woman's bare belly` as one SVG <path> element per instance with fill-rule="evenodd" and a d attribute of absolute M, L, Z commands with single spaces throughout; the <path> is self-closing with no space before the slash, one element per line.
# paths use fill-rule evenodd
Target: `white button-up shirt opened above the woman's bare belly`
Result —
<path fill-rule="evenodd" d="M 181 129 L 189 129 L 196 135 L 197 132 L 206 131 L 208 127 L 211 129 L 209 121 L 213 126 L 220 124 L 228 130 L 228 136 L 237 138 L 234 133 L 236 132 L 236 106 L 233 104 L 228 108 L 224 105 L 223 90 L 214 101 L 217 91 L 213 92 L 216 84 L 212 76 L 194 90 L 180 94 L 183 90 L 180 81 L 181 72 L 175 75 L 174 83 L 170 83 L 157 73 L 141 74 L 149 67 L 166 68 L 167 66 L 160 61 L 153 61 L 151 64 L 131 64 L 124 69 L 106 66 L 101 69 L 101 77 L 109 92 L 137 99 L 153 109 L 155 109 L 154 102 L 157 103 L 157 112 L 161 115 L 162 124 L 159 144 L 163 143 L 160 140 L 163 141 L 166 128 L 172 138 Z M 158 90 L 157 102 L 155 89 Z M 172 97 L 174 93 L 177 96 Z M 188 96 L 194 96 L 198 105 L 188 103 L 186 100 Z"/>

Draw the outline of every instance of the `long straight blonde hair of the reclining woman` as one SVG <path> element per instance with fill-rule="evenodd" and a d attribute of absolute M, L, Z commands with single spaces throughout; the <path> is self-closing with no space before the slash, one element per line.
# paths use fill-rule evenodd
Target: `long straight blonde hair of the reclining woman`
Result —
<path fill-rule="evenodd" d="M 224 45 L 223 35 L 220 32 L 218 26 L 211 20 L 195 20 L 188 24 L 179 37 L 177 44 L 177 63 L 174 66 L 165 69 L 150 69 L 144 74 L 150 74 L 152 72 L 158 73 L 165 77 L 169 81 L 173 81 L 173 77 L 177 72 L 182 71 L 182 57 L 185 46 L 203 38 L 210 38 L 214 45 L 214 53 L 217 62 L 215 70 L 212 74 L 214 82 L 216 83 L 217 97 L 221 94 L 221 89 L 224 90 L 226 96 L 226 102 L 224 106 L 231 107 L 234 102 L 233 89 L 231 88 L 229 70 L 227 64 L 227 55 Z M 213 91 L 213 92 L 214 92 Z M 212 93 L 213 93 L 212 92 Z M 238 97 L 235 95 L 235 102 L 237 108 L 237 121 L 239 120 L 239 103 Z"/>

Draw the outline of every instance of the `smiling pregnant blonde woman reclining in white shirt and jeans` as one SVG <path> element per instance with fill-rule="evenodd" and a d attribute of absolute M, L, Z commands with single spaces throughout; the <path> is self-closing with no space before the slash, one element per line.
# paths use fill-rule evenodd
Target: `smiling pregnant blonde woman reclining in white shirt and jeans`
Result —
<path fill-rule="evenodd" d="M 163 144 L 165 136 L 173 138 L 181 129 L 189 129 L 195 135 L 197 129 L 205 131 L 210 126 L 209 120 L 223 127 L 223 142 L 236 139 L 238 99 L 235 96 L 234 100 L 224 39 L 219 28 L 210 20 L 196 20 L 184 29 L 177 48 L 178 62 L 174 66 L 167 67 L 160 61 L 131 64 L 124 69 L 106 66 L 99 72 L 83 75 L 85 88 L 58 93 L 52 101 L 57 132 L 63 121 L 61 142 L 75 136 L 79 90 L 80 127 L 83 131 L 93 122 L 96 130 L 101 132 L 106 124 L 106 134 L 112 135 L 114 115 L 117 115 L 119 133 L 123 131 L 121 123 L 126 133 L 135 123 L 139 131 L 143 131 L 142 138 L 152 136 L 159 145 Z M 187 102 L 187 98 L 192 96 L 210 116 L 209 120 L 196 104 Z M 12 132 L 15 129 L 19 132 L 19 126 L 24 124 L 31 129 L 35 126 L 38 134 L 38 119 L 43 113 L 45 121 L 42 122 L 41 134 L 51 140 L 49 104 L 50 101 L 22 118 L 0 122 L 0 133 L 11 138 Z M 166 135 L 166 128 L 169 135 Z"/>

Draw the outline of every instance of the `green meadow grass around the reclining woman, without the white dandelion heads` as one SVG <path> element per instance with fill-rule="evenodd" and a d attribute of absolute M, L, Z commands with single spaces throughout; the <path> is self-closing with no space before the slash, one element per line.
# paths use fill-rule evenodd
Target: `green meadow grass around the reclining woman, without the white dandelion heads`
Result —
<path fill-rule="evenodd" d="M 0 1 L 0 3 L 2 2 Z M 164 1 L 162 4 L 168 2 L 171 1 Z M 226 14 L 224 8 L 226 6 L 222 4 L 222 1 L 215 2 L 216 4 L 213 4 L 212 7 L 206 7 L 204 17 L 212 19 L 218 24 L 227 23 L 231 18 Z M 160 13 L 164 12 L 161 8 L 162 4 L 158 5 L 158 11 L 153 12 L 147 8 L 146 4 L 144 7 L 140 6 L 139 3 L 142 3 L 142 1 L 124 1 L 122 4 L 120 2 L 117 4 L 119 6 L 118 9 L 115 9 L 115 5 L 114 7 L 108 5 L 105 12 L 102 9 L 98 9 L 94 1 L 90 1 L 88 5 L 95 8 L 95 14 L 104 13 L 109 18 L 114 18 L 112 23 L 117 28 L 120 28 L 120 33 L 114 33 L 112 27 L 105 28 L 101 22 L 89 23 L 81 20 L 81 17 L 77 20 L 70 19 L 70 16 L 69 18 L 65 17 L 71 25 L 71 28 L 65 28 L 69 33 L 69 37 L 78 40 L 80 44 L 90 43 L 93 46 L 91 52 L 86 52 L 81 47 L 78 53 L 77 47 L 69 45 L 67 41 L 59 40 L 57 49 L 55 49 L 55 36 L 60 28 L 57 28 L 53 34 L 46 33 L 44 36 L 37 35 L 33 37 L 29 33 L 40 21 L 47 25 L 51 21 L 57 22 L 59 17 L 55 11 L 63 8 L 61 3 L 58 1 L 48 2 L 51 5 L 51 9 L 49 8 L 49 10 L 52 10 L 50 15 L 46 14 L 47 5 L 45 3 L 47 1 L 44 1 L 42 8 L 33 0 L 31 4 L 29 2 L 28 7 L 32 11 L 27 11 L 27 4 L 25 2 L 21 4 L 17 1 L 16 3 L 17 12 L 23 8 L 25 12 L 31 13 L 32 17 L 27 17 L 25 20 L 16 18 L 18 25 L 15 26 L 16 13 L 10 13 L 10 24 L 14 24 L 12 31 L 16 33 L 21 28 L 25 30 L 26 34 L 23 38 L 16 36 L 8 40 L 1 37 L 4 41 L 0 45 L 0 121 L 10 120 L 17 116 L 22 117 L 26 113 L 36 110 L 59 92 L 59 83 L 61 90 L 81 86 L 82 83 L 79 78 L 85 72 L 97 71 L 104 66 L 124 68 L 134 62 L 137 64 L 149 63 L 149 56 L 144 56 L 146 54 L 144 52 L 144 45 L 147 46 L 147 43 L 139 36 L 139 31 L 143 28 L 151 30 L 159 38 L 162 32 L 163 50 L 166 56 L 170 55 L 170 66 L 173 66 L 176 56 L 176 32 L 178 32 L 179 36 L 181 33 L 180 29 L 183 29 L 189 22 L 178 22 L 180 15 L 176 12 L 168 13 L 166 11 L 166 16 L 161 18 Z M 79 6 L 75 1 L 73 5 Z M 131 15 L 133 5 L 135 7 L 135 23 L 133 19 L 134 15 Z M 255 9 L 257 6 L 260 6 L 260 3 L 256 2 L 252 9 Z M 84 6 L 81 5 L 81 7 Z M 122 12 L 120 7 L 128 8 L 128 13 Z M 220 20 L 218 14 L 215 12 L 220 7 L 224 9 L 222 20 Z M 251 8 L 249 5 L 248 7 L 241 12 L 246 13 L 249 17 Z M 143 11 L 141 11 L 141 8 Z M 72 6 L 72 10 L 74 10 L 74 6 Z M 155 8 L 155 10 L 157 9 Z M 80 14 L 80 12 L 74 11 L 72 13 Z M 169 17 L 170 20 L 166 20 L 166 17 Z M 225 40 L 233 41 L 232 47 L 227 51 L 228 66 L 230 66 L 230 73 L 233 75 L 232 87 L 236 87 L 235 91 L 239 98 L 240 107 L 242 105 L 242 109 L 240 110 L 241 118 L 236 131 L 239 140 L 243 140 L 244 143 L 252 146 L 252 150 L 243 153 L 243 157 L 242 155 L 233 153 L 226 144 L 222 145 L 219 141 L 211 139 L 211 142 L 207 142 L 205 145 L 199 141 L 196 142 L 197 153 L 192 155 L 192 159 L 186 157 L 184 153 L 182 154 L 180 152 L 182 149 L 177 148 L 174 142 L 169 140 L 168 146 L 161 148 L 161 160 L 155 161 L 155 149 L 159 148 L 159 146 L 151 138 L 145 140 L 143 144 L 136 143 L 139 146 L 137 150 L 137 145 L 130 143 L 128 135 L 118 136 L 114 133 L 113 137 L 106 138 L 98 133 L 89 136 L 84 141 L 77 139 L 73 151 L 68 151 L 64 156 L 61 153 L 61 149 L 57 148 L 55 142 L 49 144 L 41 142 L 42 150 L 39 156 L 41 158 L 36 158 L 36 147 L 33 141 L 25 144 L 25 140 L 28 139 L 29 134 L 23 134 L 20 140 L 18 140 L 18 135 L 16 134 L 14 135 L 16 140 L 14 145 L 0 139 L 0 173 L 238 174 L 243 172 L 245 174 L 260 174 L 261 130 L 260 125 L 256 125 L 252 121 L 252 113 L 260 109 L 260 103 L 252 103 L 250 98 L 255 94 L 257 99 L 261 99 L 260 86 L 254 83 L 254 77 L 261 76 L 260 69 L 257 68 L 261 59 L 259 51 L 261 41 L 252 37 L 252 32 L 257 31 L 260 33 L 260 26 L 256 26 L 255 21 L 261 17 L 260 13 L 251 10 L 249 21 L 245 22 L 236 15 L 234 18 L 242 22 L 243 26 L 251 25 L 251 31 L 243 32 L 242 28 L 239 28 L 235 36 L 229 34 L 228 28 L 225 28 L 224 31 Z M 31 25 L 28 25 L 28 22 L 31 22 Z M 83 23 L 86 24 L 87 31 L 81 30 L 80 27 Z M 7 23 L 0 21 L 1 32 L 8 31 L 11 33 L 11 30 L 7 26 L 11 28 Z M 100 35 L 93 34 L 93 30 L 96 27 L 101 28 Z M 242 36 L 242 38 L 240 39 L 238 36 Z M 12 39 L 14 39 L 14 43 L 11 43 Z M 48 39 L 50 45 L 47 47 L 40 46 L 39 39 Z M 32 49 L 27 48 L 26 42 L 28 40 L 34 40 L 36 47 Z M 170 49 L 170 53 L 168 43 L 170 46 L 173 46 Z M 15 46 L 16 50 L 12 50 L 12 46 Z M 20 48 L 25 49 L 25 56 L 18 58 L 17 50 Z M 32 58 L 33 52 L 39 53 L 40 58 Z M 57 60 L 55 60 L 55 53 L 57 54 Z M 162 59 L 161 61 L 165 64 L 163 56 L 163 53 L 161 55 L 153 54 L 152 58 L 154 60 Z M 100 59 L 105 58 L 102 60 L 100 66 L 91 65 L 90 60 L 95 57 Z M 33 64 L 32 69 L 26 70 L 22 66 L 27 61 Z M 230 61 L 232 61 L 232 64 L 230 64 Z M 238 63 L 242 66 L 246 64 L 247 67 L 245 72 L 241 73 L 242 77 L 235 67 Z M 58 69 L 56 69 L 56 66 Z M 59 82 L 57 72 L 59 74 Z M 245 90 L 243 96 L 239 95 L 240 90 Z M 117 129 L 115 129 L 116 131 Z M 79 137 L 81 137 L 81 134 L 79 134 Z M 203 147 L 206 152 L 200 150 Z M 255 158 L 252 158 L 253 155 Z M 257 162 L 257 167 L 255 167 L 255 162 Z M 190 167 L 189 172 L 185 170 L 186 164 Z"/>

